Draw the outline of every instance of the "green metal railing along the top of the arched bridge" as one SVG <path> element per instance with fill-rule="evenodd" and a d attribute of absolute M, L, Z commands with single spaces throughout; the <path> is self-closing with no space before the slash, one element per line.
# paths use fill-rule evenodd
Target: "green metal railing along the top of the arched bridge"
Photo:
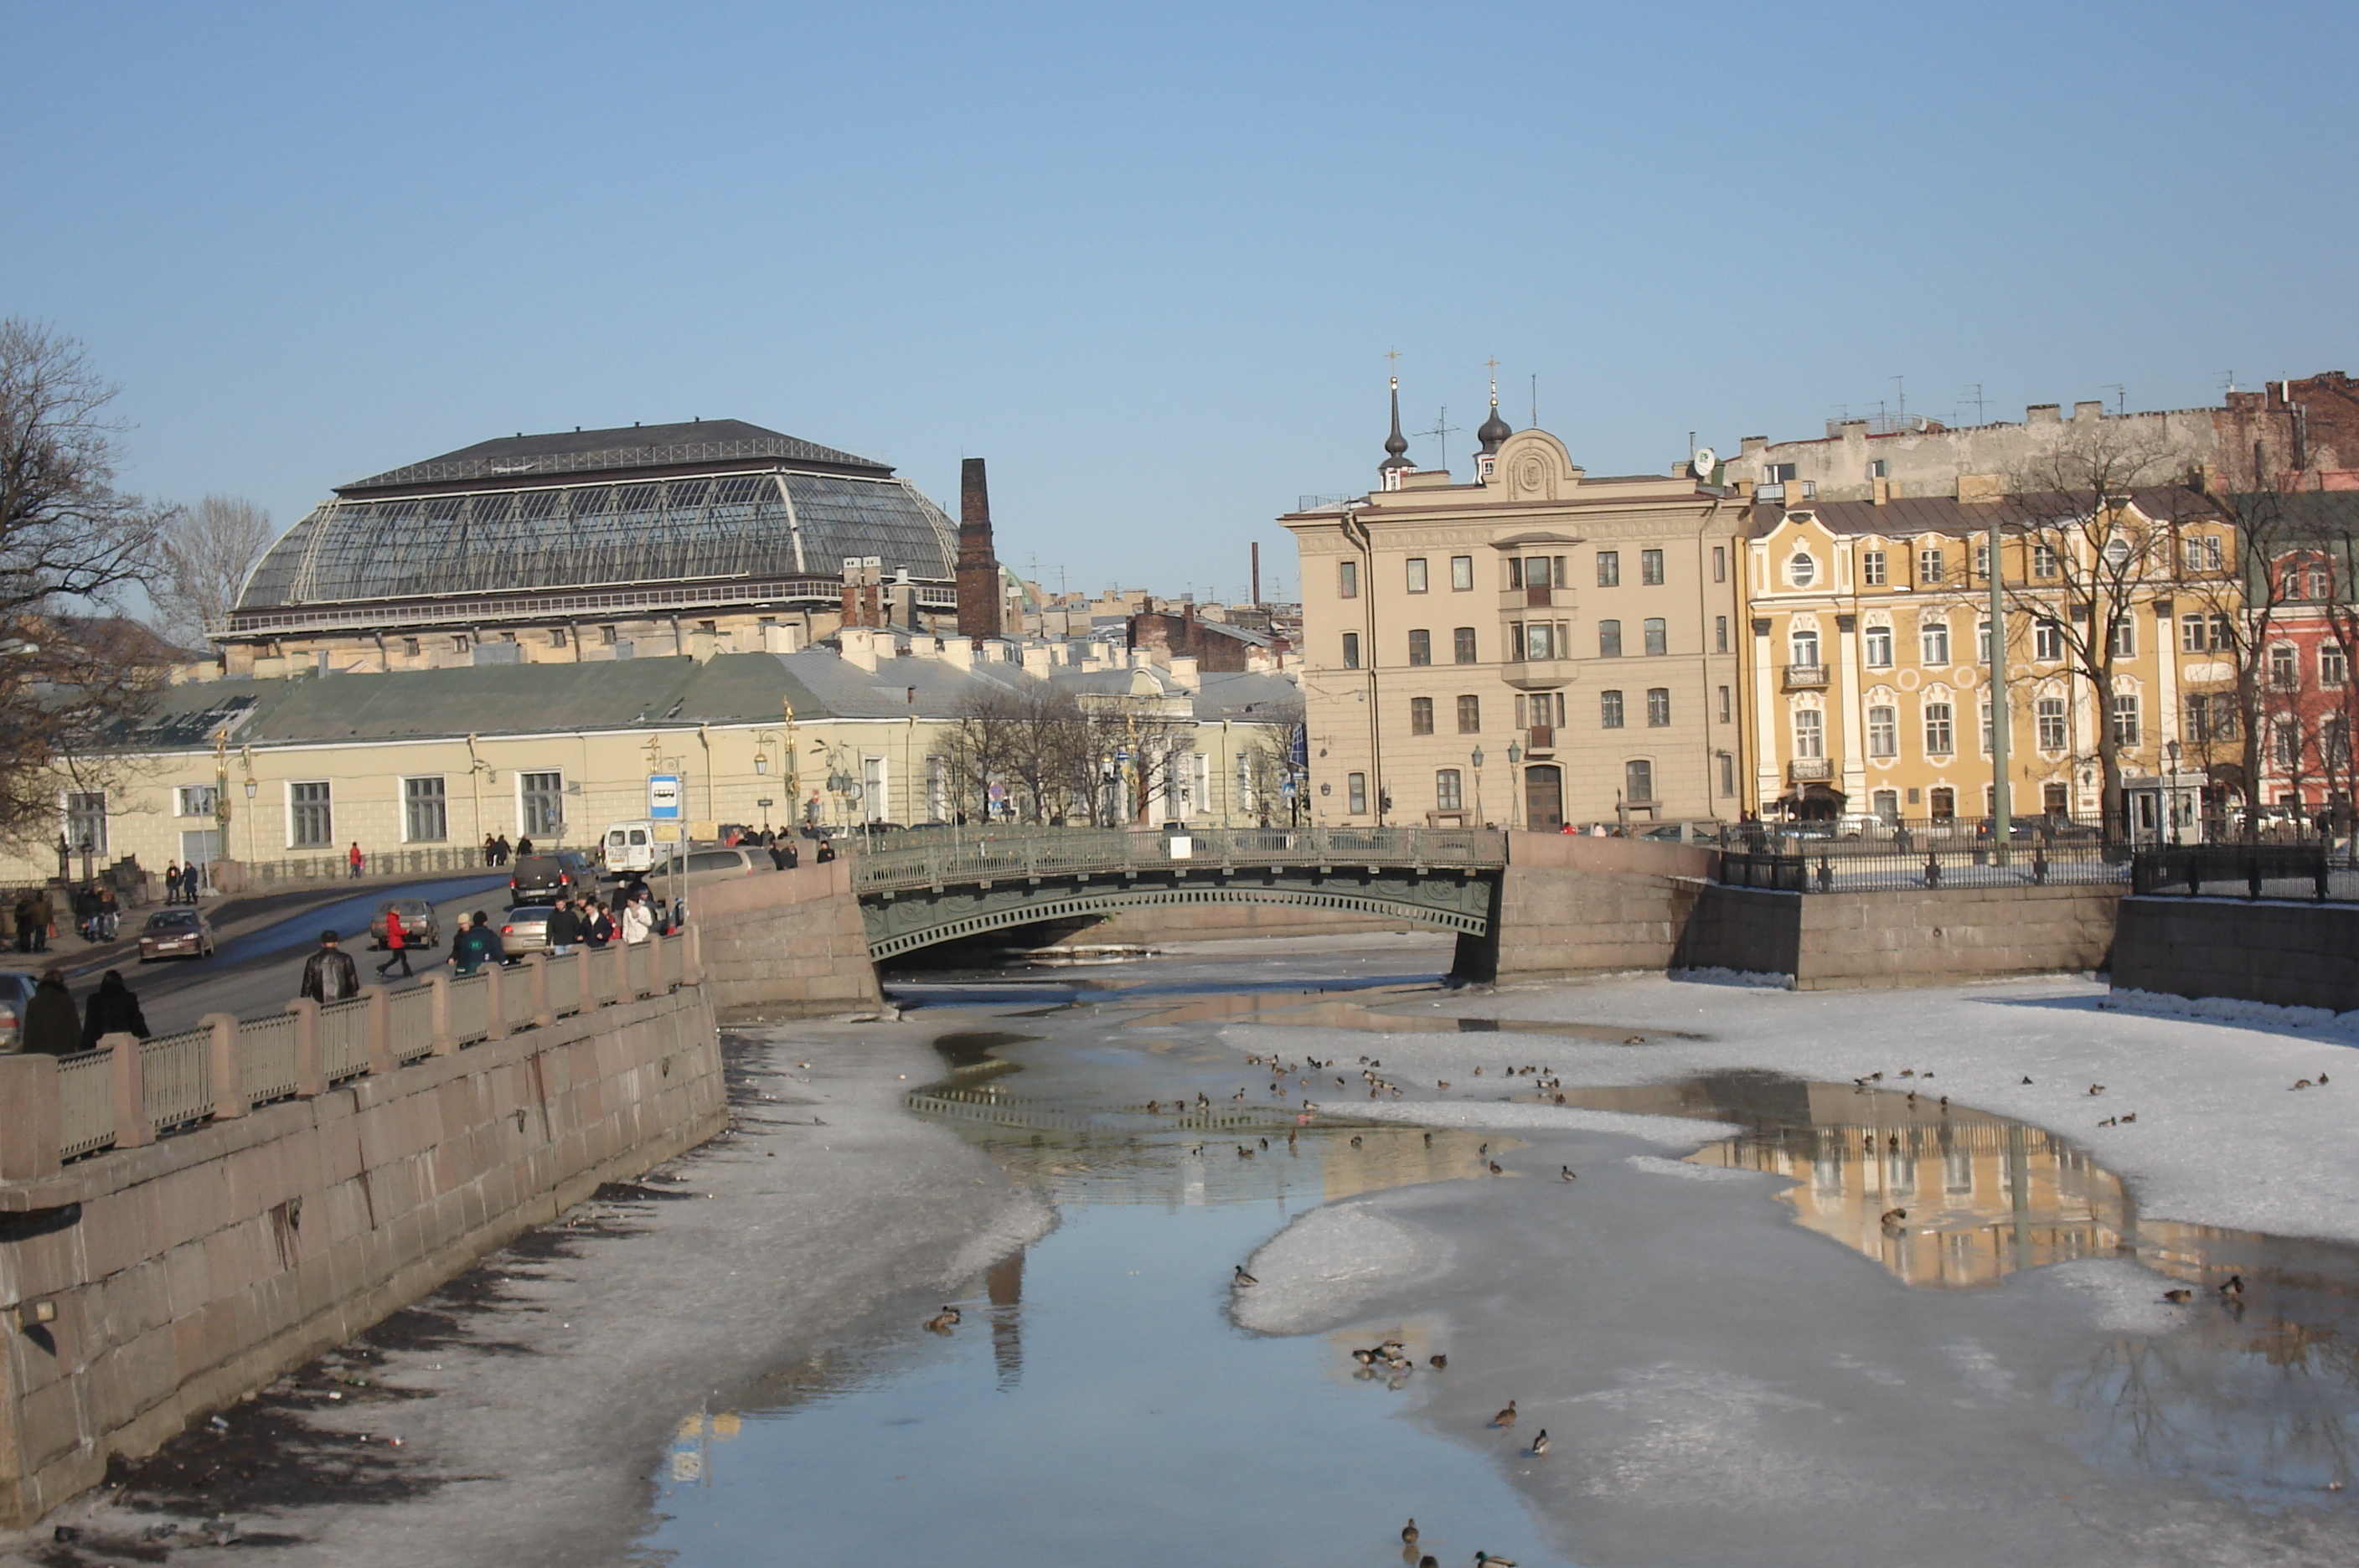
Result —
<path fill-rule="evenodd" d="M 944 887 L 995 877 L 1286 865 L 1413 865 L 1493 870 L 1507 863 L 1496 828 L 991 828 L 958 842 L 885 839 L 852 856 L 854 891 Z"/>

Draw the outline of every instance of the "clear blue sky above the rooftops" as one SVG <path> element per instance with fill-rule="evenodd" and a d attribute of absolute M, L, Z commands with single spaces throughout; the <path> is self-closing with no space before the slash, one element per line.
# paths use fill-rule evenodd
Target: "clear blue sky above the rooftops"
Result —
<path fill-rule="evenodd" d="M 2352 5 L 7 7 L 0 314 L 281 526 L 519 429 L 887 455 L 1054 587 L 1243 585 L 1484 361 L 1687 431 L 2359 370 Z M 1467 434 L 1451 436 L 1465 469 Z M 1432 439 L 1413 443 L 1434 462 Z"/>

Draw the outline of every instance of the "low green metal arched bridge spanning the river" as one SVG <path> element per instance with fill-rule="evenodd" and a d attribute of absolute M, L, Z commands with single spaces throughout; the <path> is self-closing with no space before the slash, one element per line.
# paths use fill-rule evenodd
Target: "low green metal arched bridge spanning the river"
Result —
<path fill-rule="evenodd" d="M 922 832 L 852 861 L 870 957 L 1158 903 L 1281 903 L 1489 936 L 1507 863 L 1507 837 L 1489 828 Z"/>

